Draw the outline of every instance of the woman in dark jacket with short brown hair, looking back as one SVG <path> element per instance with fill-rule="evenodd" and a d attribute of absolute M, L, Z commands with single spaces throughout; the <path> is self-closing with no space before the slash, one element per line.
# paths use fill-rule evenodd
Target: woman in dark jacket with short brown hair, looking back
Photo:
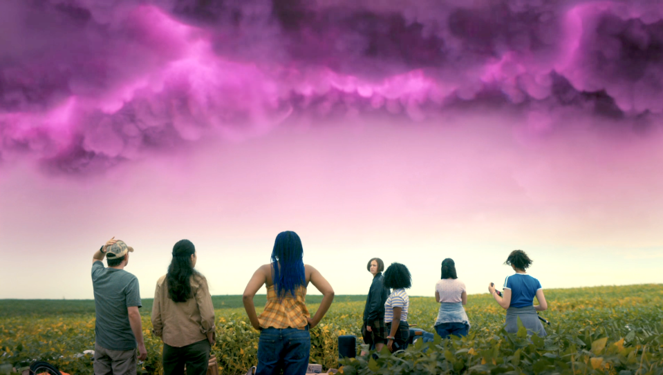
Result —
<path fill-rule="evenodd" d="M 368 296 L 366 297 L 362 336 L 364 336 L 364 343 L 368 344 L 370 349 L 376 349 L 377 352 L 380 352 L 386 343 L 384 302 L 389 297 L 389 289 L 382 286 L 382 271 L 384 271 L 382 259 L 373 258 L 368 260 L 366 269 L 373 275 L 373 282 L 371 282 L 371 289 L 368 289 Z M 366 352 L 362 351 L 362 356 L 365 354 Z"/>

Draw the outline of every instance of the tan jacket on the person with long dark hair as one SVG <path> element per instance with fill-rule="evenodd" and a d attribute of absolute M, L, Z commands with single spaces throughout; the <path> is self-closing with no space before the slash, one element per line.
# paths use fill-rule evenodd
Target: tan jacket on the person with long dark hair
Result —
<path fill-rule="evenodd" d="M 184 347 L 207 340 L 207 332 L 214 332 L 214 306 L 205 276 L 191 277 L 194 298 L 187 302 L 173 302 L 168 296 L 166 276 L 156 282 L 152 306 L 152 333 L 171 347 Z"/>

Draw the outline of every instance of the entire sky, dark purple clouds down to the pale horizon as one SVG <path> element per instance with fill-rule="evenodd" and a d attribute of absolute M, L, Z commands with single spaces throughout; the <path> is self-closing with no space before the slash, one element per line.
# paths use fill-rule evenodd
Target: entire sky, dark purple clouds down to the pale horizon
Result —
<path fill-rule="evenodd" d="M 113 235 L 240 294 L 283 230 L 339 294 L 661 282 L 660 4 L 218 4 L 0 2 L 0 298 L 92 298 Z"/>

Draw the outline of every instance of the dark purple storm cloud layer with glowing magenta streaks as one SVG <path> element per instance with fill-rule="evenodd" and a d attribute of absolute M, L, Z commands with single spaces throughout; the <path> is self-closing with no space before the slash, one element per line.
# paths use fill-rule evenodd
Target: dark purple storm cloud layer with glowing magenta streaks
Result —
<path fill-rule="evenodd" d="M 625 127 L 663 111 L 655 1 L 0 4 L 0 160 L 100 173 L 283 120 L 505 108 Z"/>

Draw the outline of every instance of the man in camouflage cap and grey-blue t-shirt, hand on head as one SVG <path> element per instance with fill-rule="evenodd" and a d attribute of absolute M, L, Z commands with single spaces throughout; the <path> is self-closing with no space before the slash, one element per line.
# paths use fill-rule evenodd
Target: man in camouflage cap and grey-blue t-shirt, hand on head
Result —
<path fill-rule="evenodd" d="M 95 375 L 136 374 L 138 360 L 147 358 L 138 308 L 138 278 L 124 271 L 133 252 L 111 238 L 92 259 L 95 292 Z M 109 267 L 104 267 L 104 255 Z M 137 345 L 138 344 L 138 345 Z M 138 346 L 138 352 L 136 352 Z"/>

